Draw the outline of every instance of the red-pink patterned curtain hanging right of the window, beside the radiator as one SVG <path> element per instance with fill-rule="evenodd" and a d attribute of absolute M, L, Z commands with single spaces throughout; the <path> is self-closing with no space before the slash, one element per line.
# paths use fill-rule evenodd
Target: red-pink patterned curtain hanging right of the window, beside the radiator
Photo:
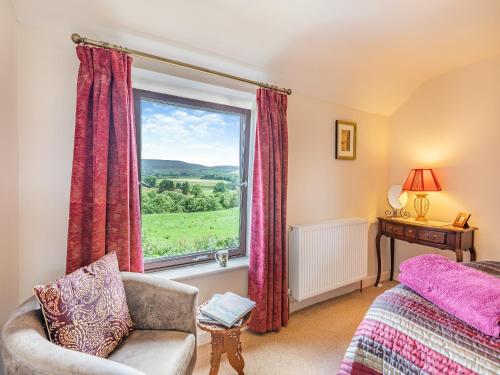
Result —
<path fill-rule="evenodd" d="M 248 295 L 257 302 L 249 326 L 264 333 L 288 323 L 287 96 L 259 89 L 257 110 Z"/>

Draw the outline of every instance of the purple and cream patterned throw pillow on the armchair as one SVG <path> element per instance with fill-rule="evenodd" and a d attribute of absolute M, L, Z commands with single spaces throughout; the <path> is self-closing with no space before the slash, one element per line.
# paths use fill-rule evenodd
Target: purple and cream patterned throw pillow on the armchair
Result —
<path fill-rule="evenodd" d="M 116 253 L 34 288 L 50 341 L 106 358 L 133 329 Z"/>

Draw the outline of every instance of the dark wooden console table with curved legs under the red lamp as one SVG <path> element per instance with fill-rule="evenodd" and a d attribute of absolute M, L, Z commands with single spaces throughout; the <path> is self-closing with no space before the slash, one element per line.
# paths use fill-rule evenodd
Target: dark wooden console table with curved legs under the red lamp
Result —
<path fill-rule="evenodd" d="M 478 228 L 459 228 L 444 222 L 429 221 L 423 223 L 414 219 L 378 218 L 378 232 L 375 239 L 377 248 L 377 281 L 380 282 L 381 260 L 380 239 L 382 236 L 391 239 L 391 278 L 394 276 L 394 240 L 401 240 L 419 245 L 435 247 L 441 250 L 454 251 L 457 262 L 463 260 L 463 252 L 470 252 L 470 260 L 476 260 L 474 249 L 474 232 Z"/>

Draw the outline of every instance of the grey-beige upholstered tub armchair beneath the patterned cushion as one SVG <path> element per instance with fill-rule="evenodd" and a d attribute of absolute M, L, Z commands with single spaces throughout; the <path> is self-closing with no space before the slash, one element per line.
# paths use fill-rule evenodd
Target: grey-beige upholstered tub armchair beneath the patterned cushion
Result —
<path fill-rule="evenodd" d="M 6 375 L 191 374 L 196 362 L 198 290 L 157 276 L 122 273 L 136 329 L 107 358 L 52 344 L 35 297 L 2 330 Z"/>

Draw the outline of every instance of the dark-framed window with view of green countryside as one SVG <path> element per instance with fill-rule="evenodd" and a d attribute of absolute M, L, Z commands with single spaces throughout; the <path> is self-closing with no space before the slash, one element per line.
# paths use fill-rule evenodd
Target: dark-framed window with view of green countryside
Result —
<path fill-rule="evenodd" d="M 134 90 L 145 269 L 246 249 L 250 110 Z"/>

